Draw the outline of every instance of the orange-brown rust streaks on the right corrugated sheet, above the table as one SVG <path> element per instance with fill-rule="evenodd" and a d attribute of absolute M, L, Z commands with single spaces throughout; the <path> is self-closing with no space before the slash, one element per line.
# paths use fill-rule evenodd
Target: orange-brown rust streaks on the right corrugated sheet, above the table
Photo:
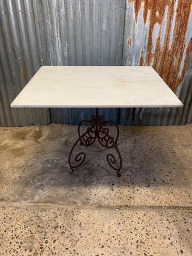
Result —
<path fill-rule="evenodd" d="M 143 51 L 141 51 L 140 65 L 152 65 L 152 67 L 158 72 L 164 81 L 170 86 L 170 88 L 175 92 L 177 87 L 184 79 L 184 74 L 186 70 L 186 64 L 189 57 L 189 51 L 192 46 L 192 40 L 189 44 L 186 44 L 186 31 L 188 29 L 189 15 L 191 12 L 191 0 L 128 0 L 129 2 L 134 2 L 134 12 L 136 22 L 138 20 L 138 13 L 140 12 L 142 3 L 143 8 L 143 22 L 146 24 L 147 14 L 149 12 L 148 20 L 148 42 L 147 50 L 145 55 L 145 60 L 143 60 Z M 175 24 L 173 22 L 174 5 L 177 3 L 177 10 L 175 15 Z M 166 8 L 168 8 L 166 16 L 166 29 L 164 33 L 164 38 L 161 38 L 161 31 L 163 26 L 163 19 L 166 13 Z M 153 49 L 152 35 L 154 31 L 154 25 L 159 24 L 159 35 L 157 36 L 155 50 Z M 170 36 L 172 26 L 173 38 L 172 44 L 170 45 Z M 163 45 L 161 48 L 161 40 L 163 40 Z M 186 56 L 184 60 L 184 65 L 182 70 L 180 70 L 180 65 L 182 63 L 182 58 L 184 51 L 186 49 Z M 179 77 L 179 73 L 181 74 Z"/>

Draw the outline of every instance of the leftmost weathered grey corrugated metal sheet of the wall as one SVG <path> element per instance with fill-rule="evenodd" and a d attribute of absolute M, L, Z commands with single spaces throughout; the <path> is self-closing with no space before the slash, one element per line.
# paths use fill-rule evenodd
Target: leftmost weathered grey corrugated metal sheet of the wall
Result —
<path fill-rule="evenodd" d="M 42 65 L 33 1 L 0 1 L 0 125 L 49 124 L 46 109 L 11 109 L 10 103 Z"/>

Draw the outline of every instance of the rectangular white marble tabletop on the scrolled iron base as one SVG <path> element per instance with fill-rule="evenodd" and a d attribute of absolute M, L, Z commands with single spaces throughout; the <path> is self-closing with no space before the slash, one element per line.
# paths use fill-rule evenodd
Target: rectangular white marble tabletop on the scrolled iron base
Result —
<path fill-rule="evenodd" d="M 152 67 L 44 66 L 13 108 L 182 107 Z"/>

